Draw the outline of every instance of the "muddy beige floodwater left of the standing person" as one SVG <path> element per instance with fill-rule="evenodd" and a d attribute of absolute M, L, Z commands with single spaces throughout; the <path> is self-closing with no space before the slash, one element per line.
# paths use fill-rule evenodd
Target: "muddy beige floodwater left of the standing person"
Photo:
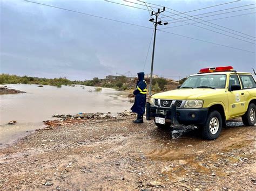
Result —
<path fill-rule="evenodd" d="M 95 87 L 37 87 L 34 84 L 9 84 L 24 94 L 0 95 L 0 147 L 11 143 L 35 129 L 42 128 L 42 121 L 53 119 L 53 114 L 78 112 L 111 112 L 129 110 L 126 93 L 110 88 L 95 91 Z M 56 119 L 56 118 L 54 118 Z M 15 125 L 6 125 L 10 121 Z"/>

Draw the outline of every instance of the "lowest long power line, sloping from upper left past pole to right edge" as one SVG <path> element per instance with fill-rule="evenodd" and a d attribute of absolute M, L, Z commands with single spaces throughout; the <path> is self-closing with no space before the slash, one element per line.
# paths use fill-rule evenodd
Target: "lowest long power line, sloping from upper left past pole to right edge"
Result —
<path fill-rule="evenodd" d="M 52 6 L 52 5 L 48 5 L 48 4 L 37 3 L 37 2 L 28 1 L 28 0 L 25 0 L 25 1 L 26 1 L 26 2 L 29 2 L 29 3 L 35 3 L 35 4 L 39 4 L 39 5 L 49 6 L 49 7 L 51 7 L 51 8 L 62 9 L 62 10 L 65 10 L 65 11 L 70 11 L 70 12 L 76 12 L 76 13 L 83 14 L 83 15 L 86 15 L 86 16 L 91 16 L 91 17 L 96 17 L 96 18 L 102 18 L 102 19 L 111 20 L 111 21 L 118 22 L 118 23 L 124 23 L 124 24 L 133 25 L 133 26 L 144 27 L 144 28 L 146 28 L 146 29 L 153 29 L 153 28 L 147 27 L 147 26 L 142 26 L 142 25 L 127 23 L 127 22 L 121 22 L 120 20 L 114 20 L 114 19 L 110 19 L 110 18 L 95 16 L 95 15 L 87 14 L 87 13 L 84 13 L 84 12 L 79 12 L 79 11 L 73 11 L 73 10 L 70 10 L 70 9 L 59 8 L 59 7 L 57 7 L 57 6 Z M 256 52 L 247 51 L 247 50 L 245 50 L 245 49 L 240 49 L 240 48 L 235 48 L 235 47 L 232 47 L 232 46 L 226 46 L 226 45 L 222 45 L 222 44 L 212 43 L 212 42 L 210 42 L 210 41 L 201 40 L 201 39 L 196 39 L 196 38 L 192 38 L 192 37 L 186 37 L 186 36 L 183 36 L 183 35 L 181 35 L 181 34 L 171 33 L 171 32 L 168 32 L 168 31 L 163 31 L 163 30 L 159 30 L 159 31 L 162 31 L 162 32 L 165 32 L 165 33 L 170 33 L 170 34 L 173 34 L 173 35 L 176 35 L 176 36 L 180 36 L 180 37 L 184 37 L 184 38 L 189 38 L 189 39 L 193 39 L 193 40 L 202 41 L 202 42 L 205 42 L 205 43 L 210 43 L 210 44 L 214 44 L 214 45 L 224 46 L 224 47 L 228 47 L 228 48 L 232 48 L 232 49 L 237 49 L 237 50 L 239 50 L 239 51 L 245 51 L 245 52 L 250 52 L 250 53 L 256 54 Z"/>

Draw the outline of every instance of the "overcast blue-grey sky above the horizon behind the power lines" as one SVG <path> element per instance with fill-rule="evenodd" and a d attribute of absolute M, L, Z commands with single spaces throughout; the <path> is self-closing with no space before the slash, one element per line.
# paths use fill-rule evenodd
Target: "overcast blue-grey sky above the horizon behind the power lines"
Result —
<path fill-rule="evenodd" d="M 105 75 L 116 75 L 116 73 L 124 74 L 128 71 L 134 75 L 143 70 L 153 32 L 151 29 L 86 16 L 22 0 L 0 1 L 1 73 L 39 77 L 66 76 L 71 80 L 85 80 L 92 79 L 92 77 L 95 76 L 103 78 Z M 31 1 L 59 6 L 60 8 L 84 12 L 95 16 L 116 19 L 127 23 L 153 27 L 152 23 L 149 22 L 150 14 L 148 11 L 105 1 Z M 117 0 L 113 1 L 125 3 Z M 143 4 L 138 1 L 133 2 Z M 164 5 L 180 12 L 186 12 L 207 6 L 232 2 L 232 0 L 173 0 L 147 2 Z M 255 3 L 254 0 L 245 0 L 189 12 L 187 14 L 199 15 L 201 13 L 253 3 Z M 146 8 L 131 3 L 125 4 L 138 6 L 143 9 Z M 255 5 L 197 16 L 203 17 L 217 13 L 248 9 L 201 18 L 211 20 L 252 13 L 250 15 L 210 21 L 211 23 L 241 33 L 205 23 L 238 35 L 199 23 L 195 25 L 251 43 L 201 29 L 193 25 L 172 27 L 165 29 L 165 31 L 256 52 L 255 44 L 252 44 L 255 43 L 254 37 L 256 36 L 255 13 L 253 13 L 256 12 L 256 10 L 249 8 L 255 8 Z M 168 16 L 177 13 L 171 10 L 166 11 L 164 14 Z M 186 15 L 182 16 L 188 17 Z M 179 16 L 172 17 L 181 18 Z M 166 17 L 164 19 L 170 20 L 171 18 Z M 191 20 L 186 22 L 193 23 Z M 184 24 L 186 23 L 172 23 L 166 26 L 159 26 L 158 29 Z M 202 41 L 157 31 L 154 74 L 177 79 L 176 76 L 184 77 L 197 73 L 200 68 L 226 65 L 231 65 L 239 71 L 252 72 L 252 67 L 256 68 L 256 54 L 251 52 L 204 43 Z M 151 56 L 152 44 L 146 61 L 145 73 L 150 73 Z"/>

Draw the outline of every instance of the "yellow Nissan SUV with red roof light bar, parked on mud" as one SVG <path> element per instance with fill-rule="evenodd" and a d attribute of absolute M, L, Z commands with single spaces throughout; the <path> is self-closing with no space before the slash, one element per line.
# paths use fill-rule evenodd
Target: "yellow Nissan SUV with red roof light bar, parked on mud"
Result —
<path fill-rule="evenodd" d="M 213 140 L 228 119 L 242 117 L 246 126 L 254 126 L 255 105 L 251 73 L 236 72 L 231 66 L 204 68 L 177 90 L 154 94 L 146 104 L 146 118 L 154 119 L 159 128 L 194 124 L 205 139 Z"/>

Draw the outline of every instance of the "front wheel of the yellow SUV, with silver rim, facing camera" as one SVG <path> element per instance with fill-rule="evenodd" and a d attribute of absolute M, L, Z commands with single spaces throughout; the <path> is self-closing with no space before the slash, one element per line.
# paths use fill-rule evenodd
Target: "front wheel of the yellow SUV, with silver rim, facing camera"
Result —
<path fill-rule="evenodd" d="M 200 127 L 204 139 L 214 140 L 220 135 L 222 117 L 218 111 L 209 112 L 206 122 Z"/>

